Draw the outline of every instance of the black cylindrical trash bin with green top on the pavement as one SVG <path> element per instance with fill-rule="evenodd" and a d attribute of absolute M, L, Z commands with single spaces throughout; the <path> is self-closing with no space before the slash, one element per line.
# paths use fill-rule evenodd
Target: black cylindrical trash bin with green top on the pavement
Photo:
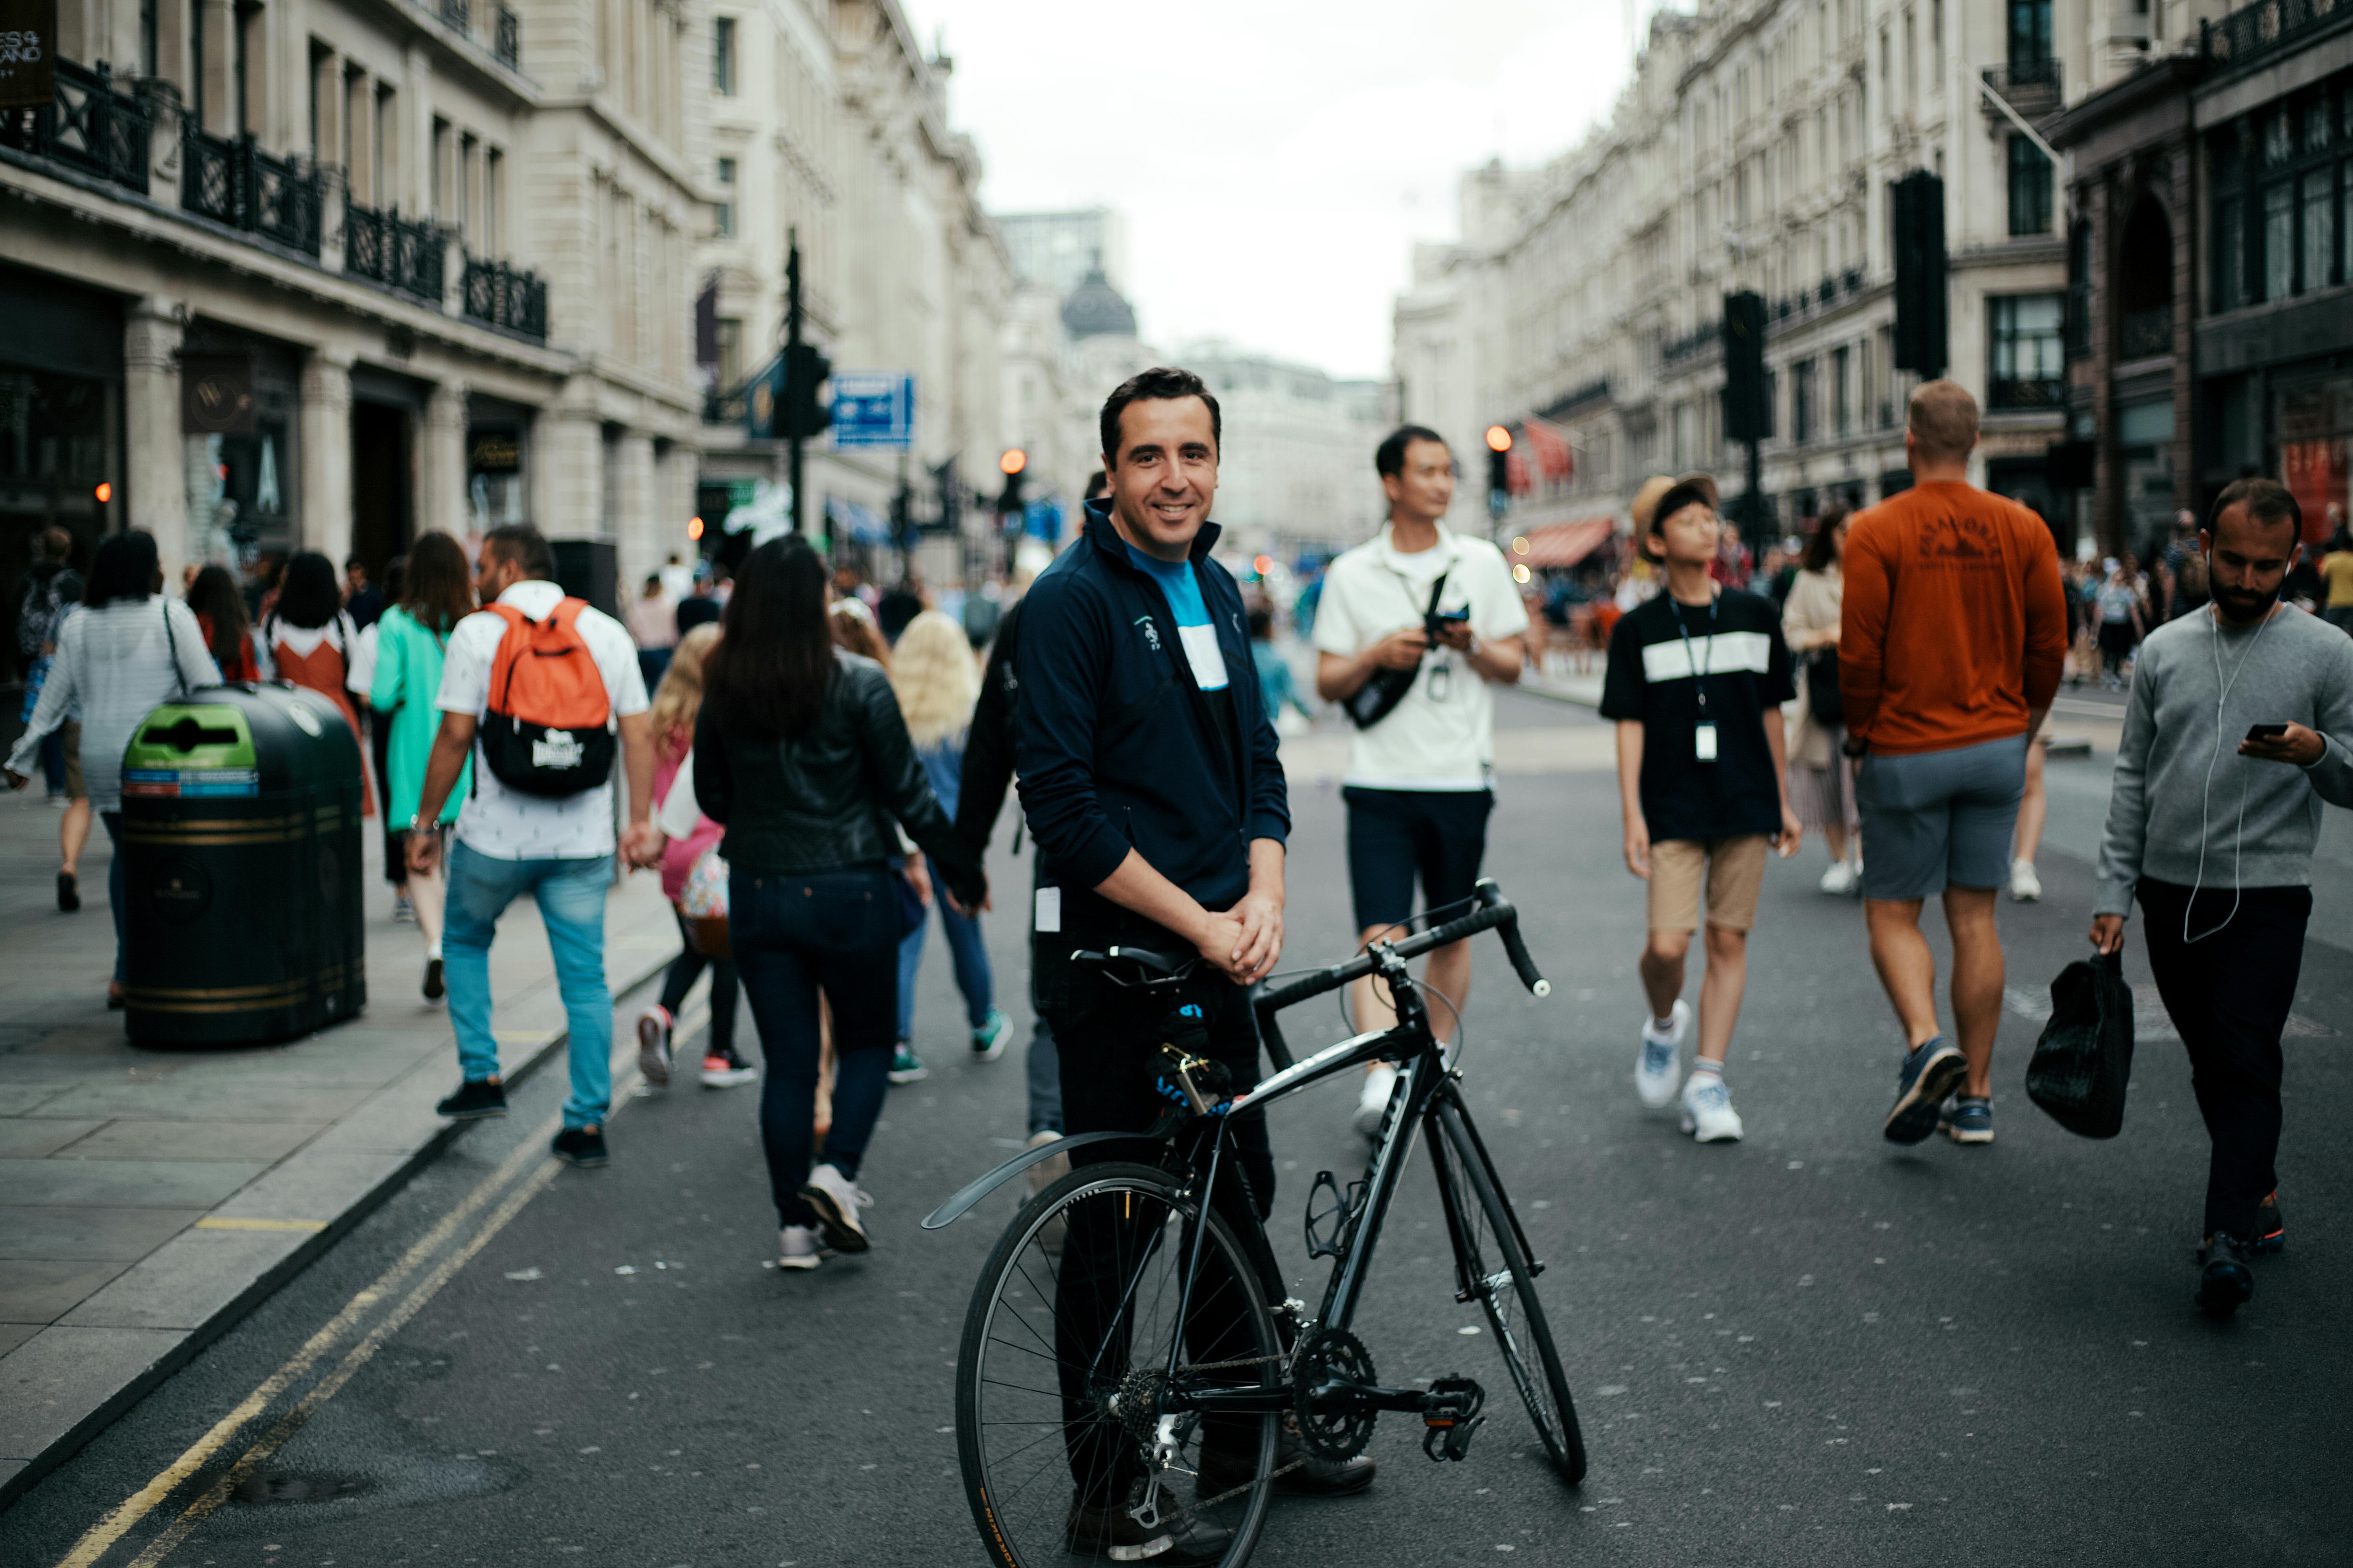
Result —
<path fill-rule="evenodd" d="M 125 1027 L 153 1046 L 308 1034 L 367 1004 L 360 745 L 294 686 L 205 686 L 122 752 Z"/>

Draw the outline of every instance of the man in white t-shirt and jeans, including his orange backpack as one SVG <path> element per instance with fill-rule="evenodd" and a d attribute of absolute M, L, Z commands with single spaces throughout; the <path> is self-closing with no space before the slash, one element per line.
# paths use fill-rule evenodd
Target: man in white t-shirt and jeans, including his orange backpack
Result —
<path fill-rule="evenodd" d="M 442 853 L 442 802 L 480 750 L 449 849 L 442 957 L 464 1081 L 440 1103 L 452 1121 L 506 1114 L 489 1027 L 489 940 L 529 893 L 548 929 L 572 1025 L 572 1095 L 555 1152 L 602 1166 L 612 1105 L 612 990 L 605 985 L 605 889 L 612 884 L 614 752 L 628 773 L 635 860 L 654 842 L 654 741 L 638 644 L 612 616 L 555 585 L 555 552 L 532 527 L 492 529 L 475 562 L 482 609 L 456 623 L 442 661 L 440 731 L 409 823 L 409 867 Z M 619 745 L 616 745 L 619 741 Z"/>

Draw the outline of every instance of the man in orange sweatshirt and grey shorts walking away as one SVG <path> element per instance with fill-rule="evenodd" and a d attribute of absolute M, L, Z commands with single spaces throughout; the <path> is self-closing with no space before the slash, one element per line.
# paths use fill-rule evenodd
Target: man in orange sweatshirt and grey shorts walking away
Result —
<path fill-rule="evenodd" d="M 1953 1143 L 1993 1143 L 1993 893 L 2009 877 L 2026 738 L 2066 658 L 2052 531 L 1969 484 L 1974 447 L 1977 400 L 1953 381 L 1920 386 L 1904 430 L 1913 487 L 1847 531 L 1838 686 L 1847 752 L 1864 759 L 1864 912 L 1908 1046 L 1889 1143 L 1939 1126 Z M 1920 936 L 1929 893 L 1944 893 L 1953 933 L 1958 1046 L 1937 1025 L 1937 957 Z"/>

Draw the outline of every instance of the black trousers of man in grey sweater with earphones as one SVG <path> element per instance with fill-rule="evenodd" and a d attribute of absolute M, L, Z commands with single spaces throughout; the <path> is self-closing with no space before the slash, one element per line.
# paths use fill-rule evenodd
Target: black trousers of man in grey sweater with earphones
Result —
<path fill-rule="evenodd" d="M 2257 1206 L 2280 1185 L 2280 1030 L 2304 969 L 2313 891 L 2200 889 L 2141 882 L 2148 966 L 2191 1053 L 2191 1084 L 2214 1152 L 2205 1232 L 2252 1237 Z M 2228 917 L 2228 924 L 2224 919 Z M 2181 940 L 2184 919 L 2188 936 Z M 2221 931 L 2214 931 L 2221 926 Z M 2205 936 L 2214 931 L 2212 936 Z"/>

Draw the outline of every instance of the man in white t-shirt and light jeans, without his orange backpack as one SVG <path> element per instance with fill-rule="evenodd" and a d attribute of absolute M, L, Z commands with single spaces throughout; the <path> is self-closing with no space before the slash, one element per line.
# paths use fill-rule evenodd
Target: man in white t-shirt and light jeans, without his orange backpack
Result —
<path fill-rule="evenodd" d="M 440 858 L 440 835 L 426 823 L 440 820 L 442 802 L 449 799 L 482 715 L 489 712 L 489 677 L 508 623 L 487 607 L 504 604 L 529 621 L 548 621 L 565 599 L 553 578 L 555 552 L 539 529 L 520 524 L 492 529 L 482 541 L 473 585 L 485 609 L 449 632 L 435 698 L 442 715 L 440 733 L 433 738 L 424 797 L 409 823 L 409 865 L 419 872 L 431 872 Z M 574 628 L 595 661 L 612 719 L 621 731 L 621 771 L 628 773 L 624 846 L 635 860 L 642 844 L 654 837 L 647 820 L 654 799 L 654 743 L 645 717 L 638 646 L 628 628 L 598 609 L 584 607 Z M 548 929 L 555 985 L 569 1023 L 572 1095 L 565 1100 L 565 1128 L 555 1135 L 555 1152 L 576 1166 L 600 1166 L 607 1159 L 612 990 L 605 985 L 605 891 L 612 886 L 612 771 L 602 783 L 572 795 L 527 795 L 508 788 L 494 769 L 475 766 L 473 795 L 456 818 L 456 844 L 449 849 L 442 957 L 464 1081 L 438 1110 L 454 1121 L 506 1114 L 499 1039 L 489 1023 L 489 943 L 506 905 L 529 893 Z"/>

